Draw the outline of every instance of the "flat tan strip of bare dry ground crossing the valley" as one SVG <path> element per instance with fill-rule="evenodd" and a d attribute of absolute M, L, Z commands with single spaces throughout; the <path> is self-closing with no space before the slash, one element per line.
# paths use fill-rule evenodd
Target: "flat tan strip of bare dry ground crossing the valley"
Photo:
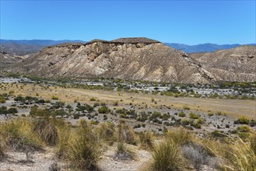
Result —
<path fill-rule="evenodd" d="M 75 99 L 82 103 L 93 104 L 90 101 L 91 97 L 95 97 L 100 102 L 114 103 L 125 106 L 130 103 L 137 105 L 147 104 L 149 107 L 157 108 L 162 105 L 170 106 L 174 109 L 183 109 L 188 106 L 191 110 L 202 112 L 218 112 L 226 113 L 229 117 L 237 118 L 245 116 L 250 119 L 256 119 L 256 101 L 251 99 L 202 99 L 192 97 L 173 97 L 160 96 L 152 94 L 132 93 L 132 92 L 115 92 L 106 90 L 88 90 L 88 89 L 73 89 L 45 86 L 26 85 L 21 89 L 22 84 L 18 86 L 9 86 L 7 89 L 0 89 L 0 93 L 14 91 L 14 95 L 37 96 L 44 99 L 51 99 L 52 96 L 58 96 L 59 100 L 66 103 L 72 103 Z M 152 102 L 152 99 L 156 103 Z"/>

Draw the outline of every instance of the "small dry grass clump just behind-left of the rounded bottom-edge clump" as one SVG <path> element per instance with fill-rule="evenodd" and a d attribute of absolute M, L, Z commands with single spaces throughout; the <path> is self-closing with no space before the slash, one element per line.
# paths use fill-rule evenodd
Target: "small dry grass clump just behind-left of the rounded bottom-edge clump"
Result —
<path fill-rule="evenodd" d="M 139 133 L 139 141 L 141 148 L 153 149 L 153 134 L 150 134 L 148 131 Z"/>

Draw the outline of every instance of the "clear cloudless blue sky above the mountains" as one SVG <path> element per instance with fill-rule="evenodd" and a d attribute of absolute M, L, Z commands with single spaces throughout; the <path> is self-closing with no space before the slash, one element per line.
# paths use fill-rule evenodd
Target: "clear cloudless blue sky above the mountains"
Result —
<path fill-rule="evenodd" d="M 0 2 L 1 39 L 255 43 L 255 0 Z"/>

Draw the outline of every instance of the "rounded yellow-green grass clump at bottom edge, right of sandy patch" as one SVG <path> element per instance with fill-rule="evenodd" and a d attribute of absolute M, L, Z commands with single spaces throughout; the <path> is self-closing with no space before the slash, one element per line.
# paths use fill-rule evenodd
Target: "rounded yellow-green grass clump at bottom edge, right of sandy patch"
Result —
<path fill-rule="evenodd" d="M 149 170 L 184 170 L 184 163 L 181 152 L 172 141 L 161 141 L 156 145 L 152 153 L 153 161 Z"/>

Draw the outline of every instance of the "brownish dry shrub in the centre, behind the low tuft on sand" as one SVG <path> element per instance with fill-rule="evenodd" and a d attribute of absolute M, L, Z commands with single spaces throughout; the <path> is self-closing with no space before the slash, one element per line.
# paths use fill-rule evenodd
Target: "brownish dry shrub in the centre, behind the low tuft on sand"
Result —
<path fill-rule="evenodd" d="M 117 125 L 117 141 L 126 142 L 130 145 L 137 144 L 135 131 L 124 121 Z"/>

